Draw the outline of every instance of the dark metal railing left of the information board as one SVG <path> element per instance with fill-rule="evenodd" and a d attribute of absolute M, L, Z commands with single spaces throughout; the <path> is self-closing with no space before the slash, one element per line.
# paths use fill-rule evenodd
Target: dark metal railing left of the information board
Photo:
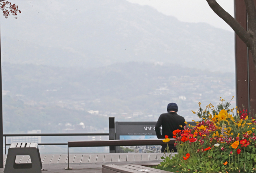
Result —
<path fill-rule="evenodd" d="M 109 133 L 28 133 L 28 134 L 4 134 L 4 153 L 6 154 L 6 137 L 18 136 L 109 136 Z M 68 145 L 68 143 L 38 143 L 38 145 Z"/>

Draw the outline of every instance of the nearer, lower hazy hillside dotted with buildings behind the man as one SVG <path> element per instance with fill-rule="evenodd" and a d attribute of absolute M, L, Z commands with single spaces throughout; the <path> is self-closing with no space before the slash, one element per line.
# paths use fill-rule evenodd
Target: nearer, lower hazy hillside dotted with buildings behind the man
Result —
<path fill-rule="evenodd" d="M 170 102 L 191 121 L 198 101 L 216 105 L 220 96 L 229 101 L 235 94 L 232 73 L 150 63 L 90 69 L 3 63 L 2 72 L 4 131 L 12 133 L 37 128 L 57 133 L 66 123 L 76 131 L 80 122 L 103 131 L 111 116 L 157 121 Z"/>

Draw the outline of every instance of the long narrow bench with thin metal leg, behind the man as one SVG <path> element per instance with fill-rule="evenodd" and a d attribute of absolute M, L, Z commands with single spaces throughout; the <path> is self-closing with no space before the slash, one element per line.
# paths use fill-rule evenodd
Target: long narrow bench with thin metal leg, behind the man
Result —
<path fill-rule="evenodd" d="M 174 144 L 175 139 L 170 139 L 168 144 Z M 68 141 L 68 167 L 70 147 L 108 147 L 108 146 L 141 146 L 141 145 L 164 145 L 163 139 L 135 139 L 135 140 L 106 140 L 106 141 Z"/>

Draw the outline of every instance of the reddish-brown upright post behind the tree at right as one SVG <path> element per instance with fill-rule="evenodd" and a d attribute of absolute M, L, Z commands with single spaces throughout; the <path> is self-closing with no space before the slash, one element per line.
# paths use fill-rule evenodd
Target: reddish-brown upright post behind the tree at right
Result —
<path fill-rule="evenodd" d="M 256 0 L 254 0 L 254 3 Z M 248 30 L 246 6 L 243 0 L 234 0 L 236 20 Z M 236 105 L 239 110 L 256 113 L 256 70 L 252 55 L 246 44 L 235 34 L 235 63 L 236 63 Z"/>

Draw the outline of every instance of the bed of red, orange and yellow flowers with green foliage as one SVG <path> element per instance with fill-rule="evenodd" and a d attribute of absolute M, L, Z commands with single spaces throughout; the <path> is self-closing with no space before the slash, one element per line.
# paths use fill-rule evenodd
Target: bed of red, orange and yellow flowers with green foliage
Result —
<path fill-rule="evenodd" d="M 190 173 L 256 172 L 256 121 L 246 110 L 229 109 L 230 102 L 224 101 L 220 98 L 217 107 L 209 104 L 206 109 L 199 102 L 198 112 L 192 112 L 200 121 L 195 127 L 189 125 L 173 132 L 178 155 L 170 157 L 167 147 L 161 169 Z M 168 137 L 163 141 L 168 142 Z"/>

